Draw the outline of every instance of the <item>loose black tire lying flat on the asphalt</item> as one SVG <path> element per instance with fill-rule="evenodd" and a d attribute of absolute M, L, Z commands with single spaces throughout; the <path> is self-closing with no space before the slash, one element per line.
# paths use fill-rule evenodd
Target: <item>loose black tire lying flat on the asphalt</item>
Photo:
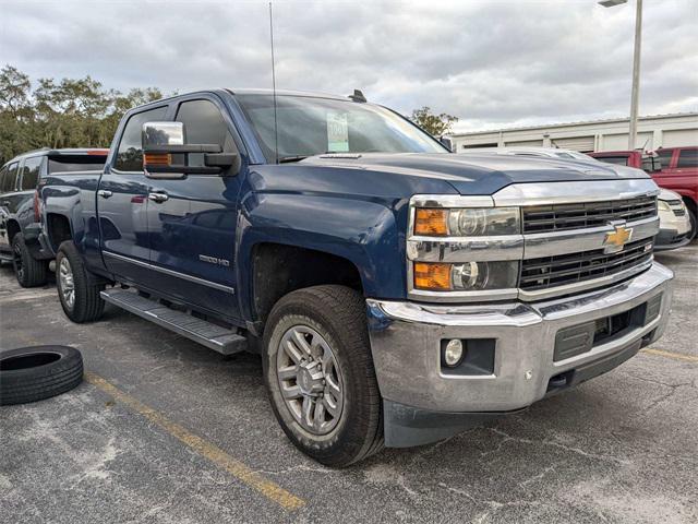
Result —
<path fill-rule="evenodd" d="M 83 357 L 67 346 L 0 352 L 0 405 L 25 404 L 60 395 L 83 380 Z"/>

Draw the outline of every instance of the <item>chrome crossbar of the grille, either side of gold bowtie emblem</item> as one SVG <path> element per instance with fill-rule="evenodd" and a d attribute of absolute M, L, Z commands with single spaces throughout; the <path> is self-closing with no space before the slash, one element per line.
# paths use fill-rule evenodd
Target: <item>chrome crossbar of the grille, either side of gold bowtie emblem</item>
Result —
<path fill-rule="evenodd" d="M 653 237 L 659 233 L 659 217 L 645 218 L 625 224 L 633 228 L 631 241 Z M 562 231 L 524 235 L 524 259 L 540 259 L 556 254 L 578 253 L 603 249 L 606 234 L 614 230 L 611 224 L 589 229 L 565 229 Z"/>

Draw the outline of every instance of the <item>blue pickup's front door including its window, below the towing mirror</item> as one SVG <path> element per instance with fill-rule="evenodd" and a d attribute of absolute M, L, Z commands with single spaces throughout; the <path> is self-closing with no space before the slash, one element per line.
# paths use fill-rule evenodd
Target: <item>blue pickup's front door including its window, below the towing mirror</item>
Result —
<path fill-rule="evenodd" d="M 184 123 L 189 144 L 219 144 L 237 151 L 231 130 L 215 97 L 184 99 L 174 117 Z M 189 165 L 203 165 L 200 154 Z M 160 271 L 154 285 L 174 298 L 234 320 L 238 302 L 234 242 L 240 177 L 189 175 L 151 180 L 148 231 L 151 263 Z"/>

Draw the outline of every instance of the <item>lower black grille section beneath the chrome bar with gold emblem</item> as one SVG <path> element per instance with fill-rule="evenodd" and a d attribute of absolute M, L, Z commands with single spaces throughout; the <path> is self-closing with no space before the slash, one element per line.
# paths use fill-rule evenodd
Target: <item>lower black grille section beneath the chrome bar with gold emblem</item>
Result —
<path fill-rule="evenodd" d="M 528 259 L 521 263 L 519 287 L 547 289 L 566 284 L 614 275 L 652 260 L 652 238 L 625 245 L 623 251 L 606 254 L 603 249 Z"/>

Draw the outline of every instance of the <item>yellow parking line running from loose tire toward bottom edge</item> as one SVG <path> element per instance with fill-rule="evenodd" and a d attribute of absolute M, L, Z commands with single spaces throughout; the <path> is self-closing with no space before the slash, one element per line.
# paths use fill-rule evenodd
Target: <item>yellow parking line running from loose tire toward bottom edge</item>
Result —
<path fill-rule="evenodd" d="M 158 413 L 152 407 L 146 406 L 142 402 L 119 390 L 101 377 L 86 372 L 85 380 L 91 384 L 97 386 L 108 395 L 112 396 L 117 401 L 121 402 L 122 404 L 125 404 L 134 412 L 143 415 L 151 422 L 156 424 L 171 436 L 177 437 L 189 448 L 205 456 L 216 465 L 220 466 L 232 476 L 239 478 L 248 486 L 256 489 L 267 499 L 276 502 L 285 510 L 298 510 L 299 508 L 305 505 L 305 501 L 303 499 L 300 499 L 294 495 L 286 491 L 284 488 L 273 483 L 272 480 L 267 480 L 258 473 L 253 472 L 246 465 L 230 456 L 217 445 L 206 442 L 201 437 L 191 433 L 180 425 L 172 422 L 161 413 Z"/>

